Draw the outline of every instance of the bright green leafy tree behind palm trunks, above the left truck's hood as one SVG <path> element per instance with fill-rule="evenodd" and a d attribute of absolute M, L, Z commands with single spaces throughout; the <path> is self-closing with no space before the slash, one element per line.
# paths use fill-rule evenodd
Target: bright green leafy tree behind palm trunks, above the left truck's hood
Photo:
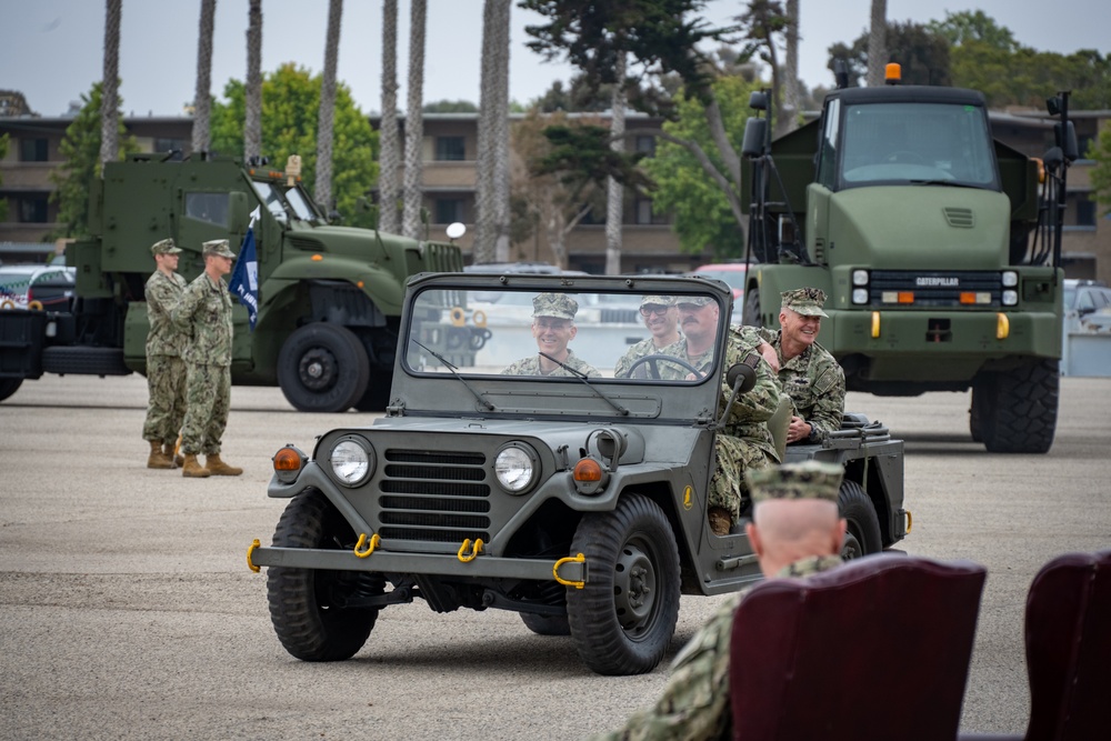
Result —
<path fill-rule="evenodd" d="M 262 78 L 262 156 L 280 168 L 290 154 L 300 154 L 306 189 L 314 192 L 321 77 L 311 77 L 290 62 Z M 212 151 L 234 157 L 243 151 L 243 83 L 230 80 L 223 96 L 226 102 L 217 101 L 212 107 Z M 378 132 L 341 82 L 336 86 L 333 136 L 338 152 L 332 168 L 336 208 L 348 224 L 372 227 L 372 214 L 359 204 L 378 178 Z"/>

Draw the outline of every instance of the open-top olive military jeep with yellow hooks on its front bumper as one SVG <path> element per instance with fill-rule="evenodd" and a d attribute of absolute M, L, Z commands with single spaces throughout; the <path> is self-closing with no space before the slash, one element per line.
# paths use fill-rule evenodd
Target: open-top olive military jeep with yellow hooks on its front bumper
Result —
<path fill-rule="evenodd" d="M 533 329 L 538 297 L 573 302 L 559 328 L 571 357 L 544 336 L 553 322 Z M 678 304 L 664 316 L 713 304 L 711 326 L 679 327 L 715 337 L 709 360 L 649 348 L 614 378 L 618 359 L 651 337 L 642 300 L 660 297 Z M 274 455 L 268 493 L 290 501 L 248 564 L 269 567 L 282 645 L 306 661 L 347 659 L 380 610 L 422 599 L 437 612 L 519 612 L 537 633 L 570 635 L 602 674 L 651 671 L 680 594 L 760 579 L 743 528 L 715 535 L 707 522 L 720 399 L 751 379 L 722 363 L 731 301 L 729 287 L 701 278 L 411 279 L 386 417 L 352 417 L 311 457 L 293 445 Z M 902 449 L 860 414 L 822 444 L 785 448 L 785 460 L 844 467 L 845 557 L 905 535 Z"/>

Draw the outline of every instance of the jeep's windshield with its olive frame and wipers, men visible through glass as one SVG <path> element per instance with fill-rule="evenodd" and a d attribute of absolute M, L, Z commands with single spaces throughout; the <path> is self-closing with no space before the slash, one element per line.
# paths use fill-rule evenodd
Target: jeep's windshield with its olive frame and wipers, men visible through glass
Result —
<path fill-rule="evenodd" d="M 708 424 L 718 408 L 731 299 L 728 286 L 704 278 L 416 278 L 391 413 Z M 652 328 L 670 337 L 660 327 L 669 321 L 679 340 L 658 349 Z M 695 344 L 708 349 L 691 354 Z"/>

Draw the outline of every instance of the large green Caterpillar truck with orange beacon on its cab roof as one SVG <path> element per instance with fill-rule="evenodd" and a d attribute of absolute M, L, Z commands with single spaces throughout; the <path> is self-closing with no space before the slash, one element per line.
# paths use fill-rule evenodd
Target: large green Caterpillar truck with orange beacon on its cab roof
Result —
<path fill-rule="evenodd" d="M 767 109 L 761 93 L 752 103 Z M 768 119 L 751 118 L 743 322 L 777 327 L 781 291 L 821 288 L 821 343 L 849 390 L 972 389 L 974 440 L 992 452 L 1048 451 L 1061 204 L 1075 159 L 1068 93 L 1051 103 L 1059 147 L 1044 162 L 993 140 L 984 97 L 971 90 L 839 88 L 818 120 L 774 142 Z"/>

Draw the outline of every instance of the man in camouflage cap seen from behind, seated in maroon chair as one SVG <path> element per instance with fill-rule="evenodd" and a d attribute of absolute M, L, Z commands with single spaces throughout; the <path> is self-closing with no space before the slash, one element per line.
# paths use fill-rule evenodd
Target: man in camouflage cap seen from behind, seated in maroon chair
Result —
<path fill-rule="evenodd" d="M 807 461 L 745 473 L 755 502 L 749 540 L 768 579 L 805 578 L 841 563 L 845 522 L 838 512 L 841 468 Z M 625 741 L 730 739 L 729 643 L 747 590 L 722 602 L 675 657 L 663 694 L 620 731 Z M 760 640 L 753 635 L 752 640 Z M 820 661 L 821 657 L 814 657 Z"/>

